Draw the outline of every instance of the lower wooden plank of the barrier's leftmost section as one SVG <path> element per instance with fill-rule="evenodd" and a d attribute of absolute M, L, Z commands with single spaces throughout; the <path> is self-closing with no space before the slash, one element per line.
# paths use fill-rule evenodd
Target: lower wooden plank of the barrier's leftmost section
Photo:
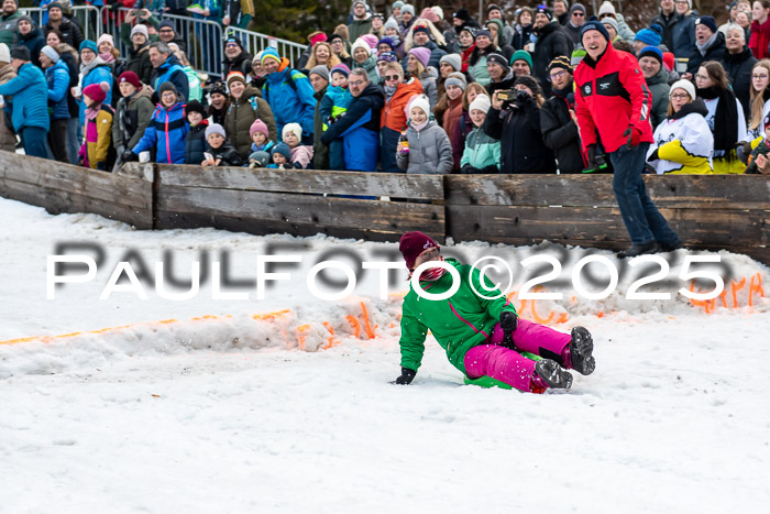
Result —
<path fill-rule="evenodd" d="M 152 197 L 150 186 L 146 196 Z M 111 200 L 102 200 L 78 193 L 59 189 L 41 188 L 34 184 L 9 182 L 0 178 L 0 196 L 44 207 L 48 212 L 92 212 L 108 219 L 123 221 L 139 229 L 152 229 L 153 216 L 151 208 L 128 207 Z"/>

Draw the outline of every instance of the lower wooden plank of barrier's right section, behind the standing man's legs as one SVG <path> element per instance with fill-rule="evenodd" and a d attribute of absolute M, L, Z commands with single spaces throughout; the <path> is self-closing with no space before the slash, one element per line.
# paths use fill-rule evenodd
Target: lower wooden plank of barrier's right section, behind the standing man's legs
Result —
<path fill-rule="evenodd" d="M 767 210 L 661 209 L 688 244 L 757 247 L 770 243 Z M 628 241 L 618 209 L 591 207 L 448 206 L 447 236 L 455 241 L 510 238 Z"/>

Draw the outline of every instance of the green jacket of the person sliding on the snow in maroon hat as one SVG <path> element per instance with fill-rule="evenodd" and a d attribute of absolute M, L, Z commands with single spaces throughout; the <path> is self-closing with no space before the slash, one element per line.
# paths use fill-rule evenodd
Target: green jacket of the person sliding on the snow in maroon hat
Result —
<path fill-rule="evenodd" d="M 473 347 L 485 345 L 492 329 L 499 321 L 504 310 L 516 313 L 513 304 L 494 287 L 488 278 L 486 288 L 481 285 L 481 273 L 469 264 L 460 264 L 454 259 L 446 262 L 460 273 L 460 288 L 451 298 L 429 300 L 415 293 L 409 286 L 409 293 L 404 297 L 402 307 L 402 365 L 417 370 L 425 353 L 425 339 L 430 330 L 447 352 L 449 362 L 465 373 L 463 359 Z M 485 296 L 485 299 L 473 292 L 471 286 Z M 449 271 L 436 282 L 421 282 L 425 291 L 431 294 L 446 293 L 452 286 L 452 275 Z"/>

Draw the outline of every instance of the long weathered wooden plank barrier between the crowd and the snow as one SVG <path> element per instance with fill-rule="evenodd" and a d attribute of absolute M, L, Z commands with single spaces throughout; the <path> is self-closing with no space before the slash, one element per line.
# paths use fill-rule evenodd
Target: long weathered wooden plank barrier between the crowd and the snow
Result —
<path fill-rule="evenodd" d="M 646 176 L 688 247 L 770 264 L 770 177 Z M 397 241 L 629 244 L 610 175 L 405 175 L 130 163 L 119 173 L 0 152 L 0 196 L 141 229 L 213 227 Z"/>

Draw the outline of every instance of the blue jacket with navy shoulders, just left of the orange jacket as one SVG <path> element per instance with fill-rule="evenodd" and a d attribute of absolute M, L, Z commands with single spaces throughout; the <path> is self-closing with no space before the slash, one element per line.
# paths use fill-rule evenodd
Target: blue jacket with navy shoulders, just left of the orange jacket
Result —
<path fill-rule="evenodd" d="M 380 86 L 371 84 L 353 98 L 348 112 L 329 127 L 321 142 L 329 145 L 342 138 L 345 169 L 376 172 L 380 162 L 380 116 L 385 97 Z"/>

